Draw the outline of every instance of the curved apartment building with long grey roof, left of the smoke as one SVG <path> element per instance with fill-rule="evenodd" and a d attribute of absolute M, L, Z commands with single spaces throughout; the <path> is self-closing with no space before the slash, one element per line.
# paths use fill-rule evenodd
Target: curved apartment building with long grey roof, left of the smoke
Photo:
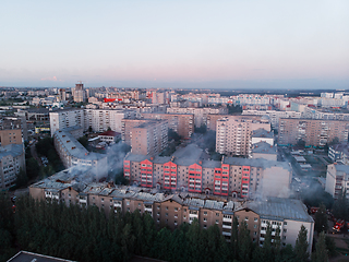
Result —
<path fill-rule="evenodd" d="M 88 152 L 76 136 L 82 133 L 82 128 L 71 127 L 56 131 L 53 134 L 55 148 L 65 168 L 76 167 L 77 169 L 93 174 L 94 180 L 108 176 L 107 155 Z"/>

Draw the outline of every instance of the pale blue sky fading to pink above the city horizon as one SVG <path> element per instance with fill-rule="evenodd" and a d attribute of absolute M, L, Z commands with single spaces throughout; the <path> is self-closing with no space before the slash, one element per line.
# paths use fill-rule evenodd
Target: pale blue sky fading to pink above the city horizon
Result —
<path fill-rule="evenodd" d="M 0 3 L 0 86 L 349 88 L 348 0 Z"/>

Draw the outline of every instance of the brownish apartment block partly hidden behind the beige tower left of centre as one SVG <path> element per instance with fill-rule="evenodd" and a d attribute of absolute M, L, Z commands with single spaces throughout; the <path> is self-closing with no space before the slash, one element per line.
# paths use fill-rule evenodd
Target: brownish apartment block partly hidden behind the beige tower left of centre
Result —
<path fill-rule="evenodd" d="M 192 114 L 142 114 L 145 119 L 167 120 L 168 128 L 184 139 L 194 133 L 194 115 Z"/>

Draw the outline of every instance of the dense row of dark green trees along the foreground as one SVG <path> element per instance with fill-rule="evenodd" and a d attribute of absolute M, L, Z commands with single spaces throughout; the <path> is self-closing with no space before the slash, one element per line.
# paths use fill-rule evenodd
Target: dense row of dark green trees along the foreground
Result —
<path fill-rule="evenodd" d="M 202 229 L 198 221 L 173 231 L 157 228 L 149 214 L 110 211 L 96 206 L 65 206 L 56 201 L 21 196 L 12 212 L 8 195 L 0 196 L 0 261 L 19 250 L 76 261 L 129 261 L 134 254 L 166 261 L 281 262 L 308 261 L 306 229 L 302 226 L 294 248 L 282 247 L 280 230 L 268 225 L 262 247 L 253 242 L 248 225 L 233 219 L 230 242 L 217 225 Z M 324 240 L 325 241 L 325 240 Z M 314 261 L 326 261 L 326 243 L 318 240 Z M 318 247 L 317 247 L 318 246 Z M 321 250 L 320 250 L 321 249 Z M 322 251 L 323 253 L 318 253 Z M 318 258 L 318 260 L 317 260 Z"/>

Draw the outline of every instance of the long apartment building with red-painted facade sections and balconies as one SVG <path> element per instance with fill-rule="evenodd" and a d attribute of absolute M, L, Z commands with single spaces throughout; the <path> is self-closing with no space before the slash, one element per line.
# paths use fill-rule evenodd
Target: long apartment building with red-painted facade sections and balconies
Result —
<path fill-rule="evenodd" d="M 284 162 L 224 157 L 221 162 L 203 158 L 194 144 L 172 156 L 128 154 L 124 177 L 131 184 L 234 198 L 253 195 L 287 196 L 291 168 Z"/>

